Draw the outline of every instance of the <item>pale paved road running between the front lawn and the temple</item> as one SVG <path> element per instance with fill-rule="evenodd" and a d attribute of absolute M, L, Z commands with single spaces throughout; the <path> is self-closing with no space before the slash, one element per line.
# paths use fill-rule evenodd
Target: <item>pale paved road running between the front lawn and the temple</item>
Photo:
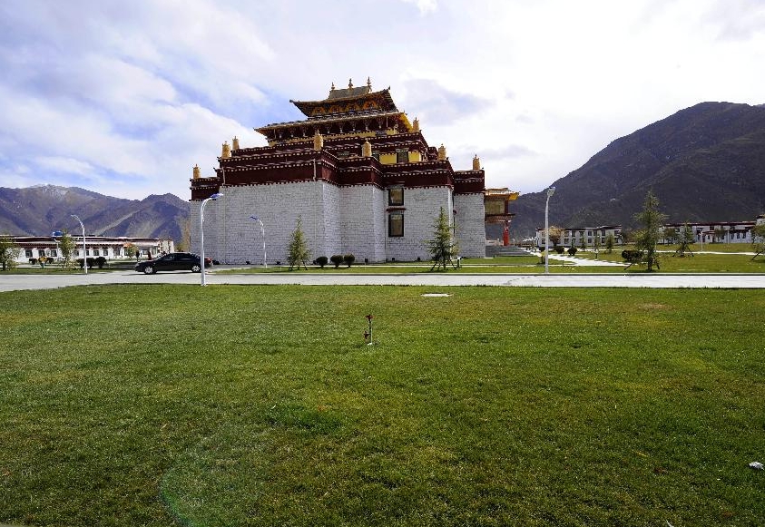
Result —
<path fill-rule="evenodd" d="M 52 289 L 103 284 L 199 284 L 200 275 L 189 272 L 146 276 L 134 271 L 89 273 L 87 275 L 0 274 L 0 292 L 21 289 Z M 466 274 L 207 274 L 209 285 L 301 284 L 308 286 L 503 286 L 534 288 L 765 288 L 765 275 L 752 274 L 565 274 L 565 275 L 466 275 Z"/>

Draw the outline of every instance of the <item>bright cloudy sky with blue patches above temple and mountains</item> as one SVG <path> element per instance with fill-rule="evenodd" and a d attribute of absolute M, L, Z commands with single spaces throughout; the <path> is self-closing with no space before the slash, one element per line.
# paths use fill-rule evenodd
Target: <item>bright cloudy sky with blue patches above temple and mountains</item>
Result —
<path fill-rule="evenodd" d="M 457 170 L 532 192 L 697 102 L 765 102 L 763 64 L 763 0 L 3 0 L 0 186 L 188 199 L 222 142 L 370 77 Z"/>

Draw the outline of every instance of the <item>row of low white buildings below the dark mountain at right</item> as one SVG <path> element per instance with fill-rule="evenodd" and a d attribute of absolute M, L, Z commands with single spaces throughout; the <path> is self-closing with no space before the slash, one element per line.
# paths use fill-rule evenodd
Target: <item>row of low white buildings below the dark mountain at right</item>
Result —
<path fill-rule="evenodd" d="M 688 223 L 697 243 L 751 243 L 751 229 L 760 222 L 765 221 L 765 216 L 760 216 L 756 221 L 718 221 L 708 223 Z M 662 235 L 677 232 L 685 223 L 667 223 L 662 226 Z M 614 242 L 622 241 L 621 225 L 602 225 L 599 227 L 584 227 L 581 229 L 561 229 L 559 245 L 565 247 L 593 247 L 597 240 L 601 247 L 609 236 Z M 552 232 L 552 229 L 551 229 Z M 544 247 L 544 229 L 537 228 L 535 236 L 536 247 Z M 672 237 L 662 237 L 662 243 L 673 243 Z M 550 242 L 553 243 L 552 241 Z"/>

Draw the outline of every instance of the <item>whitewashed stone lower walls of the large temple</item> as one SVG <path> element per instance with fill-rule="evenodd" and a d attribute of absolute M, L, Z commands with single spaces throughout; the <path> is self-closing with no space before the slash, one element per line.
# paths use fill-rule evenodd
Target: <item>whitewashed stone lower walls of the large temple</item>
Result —
<path fill-rule="evenodd" d="M 439 207 L 456 208 L 461 254 L 485 255 L 484 207 L 480 194 L 456 196 L 448 187 L 404 190 L 404 237 L 387 236 L 387 190 L 374 185 L 338 188 L 326 181 L 252 185 L 221 189 L 223 198 L 209 201 L 204 210 L 205 256 L 222 264 L 260 264 L 263 222 L 268 263 L 287 262 L 289 239 L 298 217 L 311 251 L 319 256 L 352 253 L 357 262 L 423 260 L 430 258 L 427 240 Z M 191 202 L 191 251 L 199 254 L 199 210 Z M 314 219 L 316 222 L 314 223 Z M 315 229 L 314 229 L 315 226 Z M 467 237 L 473 239 L 467 240 Z"/>

